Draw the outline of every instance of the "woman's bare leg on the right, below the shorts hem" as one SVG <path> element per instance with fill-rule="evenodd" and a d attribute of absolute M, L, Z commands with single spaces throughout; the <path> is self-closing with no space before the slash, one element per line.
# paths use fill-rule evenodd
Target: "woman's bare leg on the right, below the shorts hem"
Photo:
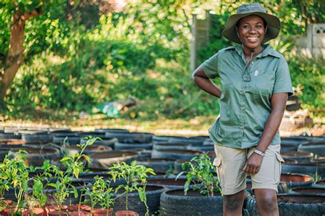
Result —
<path fill-rule="evenodd" d="M 254 189 L 256 204 L 261 216 L 278 216 L 276 191 L 272 189 Z"/>

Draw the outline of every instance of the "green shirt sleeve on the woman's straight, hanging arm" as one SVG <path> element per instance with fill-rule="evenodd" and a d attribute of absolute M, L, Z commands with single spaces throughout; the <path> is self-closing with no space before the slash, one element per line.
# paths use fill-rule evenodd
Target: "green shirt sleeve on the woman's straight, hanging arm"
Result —
<path fill-rule="evenodd" d="M 288 93 L 289 96 L 293 94 L 289 66 L 287 61 L 282 58 L 276 70 L 276 79 L 273 87 L 273 94 L 275 93 Z"/>

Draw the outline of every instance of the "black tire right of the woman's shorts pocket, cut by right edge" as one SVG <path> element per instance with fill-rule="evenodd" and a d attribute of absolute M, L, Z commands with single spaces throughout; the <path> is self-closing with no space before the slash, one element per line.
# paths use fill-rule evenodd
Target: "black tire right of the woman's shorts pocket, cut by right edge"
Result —
<path fill-rule="evenodd" d="M 284 163 L 282 164 L 282 173 L 292 174 L 307 174 L 309 176 L 315 176 L 316 172 L 318 176 L 325 177 L 325 163 Z"/>

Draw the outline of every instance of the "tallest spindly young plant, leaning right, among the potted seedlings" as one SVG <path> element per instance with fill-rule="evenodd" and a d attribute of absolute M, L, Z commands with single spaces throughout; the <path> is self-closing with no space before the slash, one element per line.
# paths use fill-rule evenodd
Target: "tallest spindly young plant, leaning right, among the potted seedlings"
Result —
<path fill-rule="evenodd" d="M 56 189 L 54 197 L 58 203 L 59 212 L 61 211 L 63 202 L 69 197 L 70 193 L 73 193 L 75 198 L 78 197 L 77 189 L 75 189 L 75 187 L 71 184 L 72 178 L 78 178 L 79 173 L 84 170 L 84 163 L 82 162 L 82 159 L 90 163 L 90 159 L 84 154 L 84 150 L 87 146 L 93 145 L 96 140 L 97 137 L 89 137 L 85 144 L 77 145 L 81 148 L 80 153 L 75 153 L 61 159 L 61 162 L 67 167 L 67 170 L 62 171 L 59 170 L 56 165 L 51 165 L 51 170 L 55 173 L 57 180 L 56 183 L 49 183 L 48 185 Z"/>

